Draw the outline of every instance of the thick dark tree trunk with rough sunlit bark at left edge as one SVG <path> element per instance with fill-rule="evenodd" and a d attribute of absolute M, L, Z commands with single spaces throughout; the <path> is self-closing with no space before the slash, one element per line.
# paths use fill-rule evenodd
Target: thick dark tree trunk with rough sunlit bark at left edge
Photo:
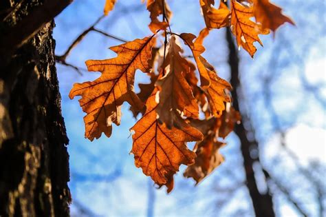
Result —
<path fill-rule="evenodd" d="M 0 39 L 43 2 L 1 0 Z M 0 63 L 0 216 L 69 216 L 53 28 L 46 23 L 12 56 L 0 56 L 8 59 Z"/>

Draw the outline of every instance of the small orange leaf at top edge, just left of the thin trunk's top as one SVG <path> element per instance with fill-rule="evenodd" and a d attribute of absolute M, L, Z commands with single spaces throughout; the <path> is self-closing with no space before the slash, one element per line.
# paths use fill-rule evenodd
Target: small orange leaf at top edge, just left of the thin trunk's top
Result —
<path fill-rule="evenodd" d="M 216 9 L 211 4 L 214 4 L 214 1 L 200 0 L 206 27 L 219 29 L 230 25 L 228 6 L 221 1 L 219 9 Z"/>

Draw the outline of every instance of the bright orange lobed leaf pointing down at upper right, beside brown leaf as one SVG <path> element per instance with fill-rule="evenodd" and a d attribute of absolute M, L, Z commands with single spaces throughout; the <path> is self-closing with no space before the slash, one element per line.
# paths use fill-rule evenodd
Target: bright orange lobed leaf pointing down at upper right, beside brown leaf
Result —
<path fill-rule="evenodd" d="M 263 29 L 261 24 L 254 23 L 250 18 L 254 17 L 252 6 L 243 6 L 236 0 L 231 0 L 231 30 L 237 39 L 237 45 L 246 50 L 250 56 L 254 56 L 257 48 L 254 42 L 263 43 L 258 34 L 268 34 L 270 31 Z"/>

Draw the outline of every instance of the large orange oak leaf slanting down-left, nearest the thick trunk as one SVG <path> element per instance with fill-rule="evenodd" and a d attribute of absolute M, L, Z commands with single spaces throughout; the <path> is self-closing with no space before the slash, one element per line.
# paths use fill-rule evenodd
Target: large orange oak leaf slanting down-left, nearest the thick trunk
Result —
<path fill-rule="evenodd" d="M 95 81 L 75 83 L 69 98 L 82 96 L 80 107 L 87 113 L 84 117 L 85 138 L 93 141 L 103 133 L 111 136 L 112 122 L 120 123 L 120 105 L 127 101 L 134 110 L 142 110 L 144 103 L 133 92 L 135 70 L 149 72 L 147 61 L 151 59 L 151 49 L 155 44 L 154 35 L 135 39 L 122 45 L 111 47 L 118 54 L 113 59 L 89 60 L 89 71 L 102 72 Z"/>

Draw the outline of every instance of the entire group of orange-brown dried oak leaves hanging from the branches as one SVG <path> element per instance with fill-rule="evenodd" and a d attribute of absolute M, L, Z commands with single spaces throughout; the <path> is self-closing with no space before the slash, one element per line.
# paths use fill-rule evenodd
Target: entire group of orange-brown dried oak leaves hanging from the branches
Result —
<path fill-rule="evenodd" d="M 114 3 L 116 0 L 107 0 L 105 14 Z M 80 106 L 87 113 L 85 137 L 91 141 L 102 133 L 111 136 L 112 123 L 120 124 L 124 101 L 135 117 L 141 113 L 142 118 L 131 127 L 135 165 L 157 185 L 166 185 L 168 192 L 181 164 L 188 165 L 184 176 L 197 183 L 220 165 L 224 158 L 219 149 L 225 144 L 219 139 L 228 136 L 241 119 L 231 106 L 232 87 L 202 56 L 210 30 L 230 27 L 239 47 L 253 56 L 257 50 L 253 43 L 262 44 L 259 34 L 275 31 L 285 22 L 294 24 L 269 0 L 231 0 L 230 8 L 224 2 L 215 8 L 214 0 L 199 0 L 199 4 L 206 28 L 196 37 L 172 32 L 167 3 L 147 0 L 153 35 L 111 47 L 118 54 L 113 59 L 86 61 L 89 71 L 102 75 L 74 84 L 69 93 L 71 99 L 81 96 Z M 162 45 L 157 45 L 157 37 L 164 37 Z M 195 63 L 182 56 L 178 40 L 191 50 Z M 151 79 L 139 85 L 138 94 L 134 92 L 136 70 Z M 197 141 L 193 151 L 186 145 L 190 141 Z"/>

